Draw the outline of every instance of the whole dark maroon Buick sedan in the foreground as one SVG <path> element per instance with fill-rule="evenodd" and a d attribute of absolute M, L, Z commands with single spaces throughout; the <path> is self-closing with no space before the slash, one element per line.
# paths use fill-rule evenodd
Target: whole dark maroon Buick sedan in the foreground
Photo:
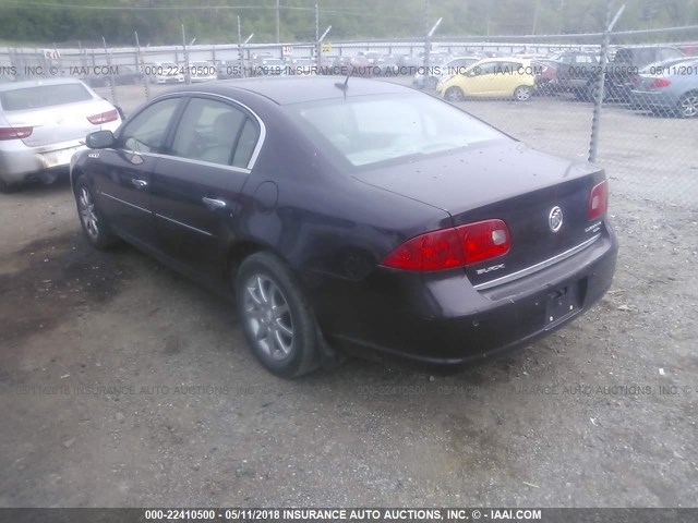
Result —
<path fill-rule="evenodd" d="M 87 240 L 233 297 L 284 377 L 338 353 L 482 361 L 578 317 L 614 273 L 602 169 L 394 83 L 190 86 L 87 145 L 71 170 Z"/>

